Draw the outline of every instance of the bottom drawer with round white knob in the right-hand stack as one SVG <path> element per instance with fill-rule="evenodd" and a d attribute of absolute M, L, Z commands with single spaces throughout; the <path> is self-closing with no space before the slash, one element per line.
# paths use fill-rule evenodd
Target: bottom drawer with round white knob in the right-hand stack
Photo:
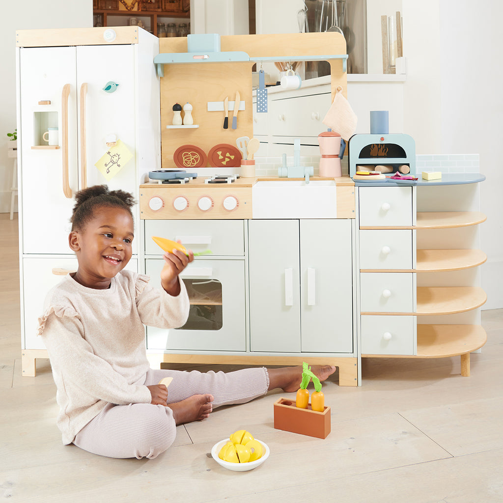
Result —
<path fill-rule="evenodd" d="M 415 316 L 362 316 L 362 355 L 413 355 Z"/>

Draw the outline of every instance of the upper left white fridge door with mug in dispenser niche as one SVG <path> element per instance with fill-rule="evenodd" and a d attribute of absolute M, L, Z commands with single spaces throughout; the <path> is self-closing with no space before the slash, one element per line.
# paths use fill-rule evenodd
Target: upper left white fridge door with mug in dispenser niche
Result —
<path fill-rule="evenodd" d="M 66 254 L 70 251 L 68 233 L 73 200 L 63 193 L 65 167 L 61 147 L 62 125 L 67 119 L 68 182 L 71 190 L 75 190 L 75 47 L 21 48 L 19 57 L 22 251 L 24 254 Z M 69 94 L 63 100 L 66 91 Z M 62 113 L 63 101 L 67 105 L 66 114 Z M 43 133 L 49 127 L 58 128 L 58 145 L 49 146 L 44 141 Z"/>

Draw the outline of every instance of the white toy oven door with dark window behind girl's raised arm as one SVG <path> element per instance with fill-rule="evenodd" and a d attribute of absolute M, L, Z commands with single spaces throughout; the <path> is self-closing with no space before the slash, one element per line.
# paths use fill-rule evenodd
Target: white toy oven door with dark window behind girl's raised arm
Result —
<path fill-rule="evenodd" d="M 160 288 L 162 259 L 146 259 L 150 284 Z M 244 260 L 195 260 L 181 277 L 190 299 L 180 328 L 147 327 L 148 350 L 246 351 Z"/>

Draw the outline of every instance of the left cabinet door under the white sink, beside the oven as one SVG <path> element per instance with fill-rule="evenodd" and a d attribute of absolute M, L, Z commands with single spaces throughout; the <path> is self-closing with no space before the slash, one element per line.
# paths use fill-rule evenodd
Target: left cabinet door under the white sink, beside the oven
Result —
<path fill-rule="evenodd" d="M 248 222 L 250 350 L 300 352 L 299 221 Z"/>

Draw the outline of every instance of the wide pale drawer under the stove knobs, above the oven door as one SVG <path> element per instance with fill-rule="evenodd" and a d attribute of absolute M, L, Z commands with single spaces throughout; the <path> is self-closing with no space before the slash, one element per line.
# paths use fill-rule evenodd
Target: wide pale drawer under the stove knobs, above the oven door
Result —
<path fill-rule="evenodd" d="M 162 255 L 152 236 L 180 239 L 193 251 L 210 249 L 212 256 L 244 256 L 243 220 L 145 220 L 145 254 Z"/>

